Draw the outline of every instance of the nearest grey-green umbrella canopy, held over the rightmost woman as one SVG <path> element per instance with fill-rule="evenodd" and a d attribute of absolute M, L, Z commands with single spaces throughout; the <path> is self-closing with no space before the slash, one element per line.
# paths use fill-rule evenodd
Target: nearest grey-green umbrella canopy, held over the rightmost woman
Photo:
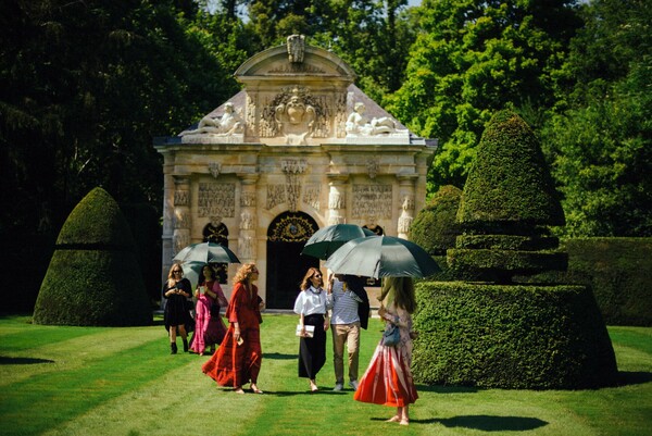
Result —
<path fill-rule="evenodd" d="M 366 277 L 427 277 L 441 269 L 423 248 L 392 236 L 368 236 L 344 244 L 326 261 L 338 274 Z"/>

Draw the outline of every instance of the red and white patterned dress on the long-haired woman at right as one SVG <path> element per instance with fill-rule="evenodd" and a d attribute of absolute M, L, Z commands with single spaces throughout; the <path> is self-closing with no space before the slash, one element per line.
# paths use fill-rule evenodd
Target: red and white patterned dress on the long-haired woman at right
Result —
<path fill-rule="evenodd" d="M 393 304 L 387 307 L 386 328 L 389 320 L 398 320 L 401 340 L 396 347 L 385 347 L 383 340 L 376 347 L 366 372 L 360 379 L 353 399 L 362 402 L 390 407 L 405 407 L 418 398 L 412 381 L 412 316 Z"/>

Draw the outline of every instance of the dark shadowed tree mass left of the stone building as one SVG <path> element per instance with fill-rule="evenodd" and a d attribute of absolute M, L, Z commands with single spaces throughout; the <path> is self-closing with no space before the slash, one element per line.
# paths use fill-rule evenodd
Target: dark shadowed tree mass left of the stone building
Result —
<path fill-rule="evenodd" d="M 179 2 L 184 3 L 184 2 Z M 0 14 L 0 233 L 58 229 L 101 185 L 160 204 L 152 137 L 237 89 L 172 0 L 8 0 Z M 223 78 L 224 77 L 224 78 Z"/>

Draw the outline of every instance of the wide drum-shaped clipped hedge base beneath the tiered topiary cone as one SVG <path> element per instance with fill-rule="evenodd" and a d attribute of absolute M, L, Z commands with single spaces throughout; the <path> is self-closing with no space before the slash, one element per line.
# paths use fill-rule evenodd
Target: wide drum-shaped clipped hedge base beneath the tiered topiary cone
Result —
<path fill-rule="evenodd" d="M 587 287 L 422 282 L 416 297 L 418 383 L 577 389 L 617 382 L 611 340 Z"/>

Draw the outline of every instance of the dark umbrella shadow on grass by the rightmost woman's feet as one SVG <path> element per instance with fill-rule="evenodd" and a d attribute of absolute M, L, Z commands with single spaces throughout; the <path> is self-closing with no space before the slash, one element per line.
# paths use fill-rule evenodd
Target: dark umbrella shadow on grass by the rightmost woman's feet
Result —
<path fill-rule="evenodd" d="M 374 421 L 385 421 L 386 419 L 373 418 Z M 528 431 L 548 425 L 548 422 L 538 418 L 526 416 L 490 416 L 490 415 L 461 415 L 454 418 L 414 420 L 410 419 L 411 424 L 441 424 L 444 427 L 464 427 L 479 429 L 482 432 L 517 432 Z"/>

